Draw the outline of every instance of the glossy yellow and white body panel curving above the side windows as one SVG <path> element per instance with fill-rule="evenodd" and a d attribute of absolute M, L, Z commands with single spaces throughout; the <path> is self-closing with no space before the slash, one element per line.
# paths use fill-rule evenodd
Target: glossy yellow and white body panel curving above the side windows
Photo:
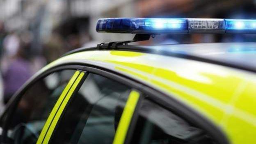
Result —
<path fill-rule="evenodd" d="M 57 59 L 41 71 L 62 64 L 92 65 L 134 78 L 201 113 L 221 128 L 231 143 L 254 142 L 256 75 L 253 72 L 191 59 L 119 50 L 74 53 Z"/>

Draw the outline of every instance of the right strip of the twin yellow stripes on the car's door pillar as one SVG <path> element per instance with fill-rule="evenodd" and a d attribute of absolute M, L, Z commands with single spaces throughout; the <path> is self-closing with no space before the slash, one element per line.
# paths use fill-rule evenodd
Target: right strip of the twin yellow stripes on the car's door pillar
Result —
<path fill-rule="evenodd" d="M 43 140 L 43 144 L 48 144 L 50 137 L 53 134 L 53 130 L 55 129 L 55 126 L 57 125 L 57 122 L 59 121 L 59 117 L 61 116 L 64 108 L 66 107 L 66 104 L 69 101 L 69 98 L 72 96 L 75 88 L 78 86 L 79 82 L 82 80 L 83 76 L 85 75 L 85 73 L 81 72 L 80 75 L 78 76 L 77 80 L 74 82 L 73 86 L 71 87 L 71 89 L 69 90 L 69 93 L 66 95 L 66 97 L 64 98 L 64 101 L 62 102 L 62 104 L 59 107 L 59 110 L 57 111 L 52 124 L 50 125 L 48 132 L 46 133 L 46 137 Z"/>

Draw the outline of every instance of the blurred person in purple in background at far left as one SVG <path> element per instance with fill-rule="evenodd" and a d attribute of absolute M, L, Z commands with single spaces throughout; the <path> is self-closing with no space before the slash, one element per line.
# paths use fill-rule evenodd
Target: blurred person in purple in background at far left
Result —
<path fill-rule="evenodd" d="M 28 57 L 29 43 L 21 42 L 16 55 L 9 62 L 4 80 L 4 103 L 6 104 L 11 96 L 30 78 L 31 62 Z"/>

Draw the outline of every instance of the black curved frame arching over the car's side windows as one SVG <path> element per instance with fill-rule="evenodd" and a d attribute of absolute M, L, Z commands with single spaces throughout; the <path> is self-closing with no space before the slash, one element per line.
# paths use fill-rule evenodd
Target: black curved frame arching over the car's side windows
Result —
<path fill-rule="evenodd" d="M 112 71 L 106 68 L 103 68 L 104 66 L 98 65 L 93 66 L 89 64 L 82 64 L 82 63 L 67 63 L 62 64 L 58 66 L 54 66 L 53 68 L 50 68 L 43 73 L 40 73 L 39 75 L 33 76 L 30 80 L 28 80 L 21 89 L 19 89 L 16 94 L 11 98 L 11 103 L 7 105 L 7 110 L 10 110 L 10 112 L 14 112 L 14 109 L 16 108 L 15 105 L 17 105 L 18 101 L 21 99 L 22 94 L 26 91 L 30 85 L 33 85 L 34 82 L 37 82 L 37 80 L 43 78 L 44 76 L 53 73 L 55 71 L 64 70 L 64 69 L 74 69 L 74 70 L 80 70 L 80 71 L 86 71 L 88 73 L 94 73 L 101 76 L 104 76 L 106 78 L 115 80 L 117 82 L 121 82 L 124 85 L 127 85 L 131 87 L 132 89 L 136 89 L 140 92 L 140 98 L 137 103 L 137 106 L 135 108 L 135 111 L 133 113 L 133 117 L 130 121 L 130 126 L 128 128 L 126 139 L 124 144 L 128 144 L 130 142 L 133 130 L 135 128 L 136 120 L 138 117 L 138 107 L 140 106 L 142 100 L 147 97 L 151 99 L 153 102 L 164 105 L 173 113 L 178 113 L 179 116 L 182 115 L 182 118 L 184 118 L 186 121 L 193 123 L 194 125 L 198 126 L 199 128 L 202 128 L 203 130 L 206 130 L 209 135 L 213 137 L 213 139 L 216 139 L 216 142 L 219 144 L 229 144 L 229 139 L 226 137 L 224 132 L 215 124 L 213 124 L 210 119 L 206 118 L 196 110 L 194 110 L 192 107 L 185 105 L 181 101 L 178 101 L 174 96 L 171 96 L 171 94 L 167 94 L 164 91 L 160 91 L 154 87 L 151 87 L 149 85 L 146 85 L 143 81 L 136 80 L 134 78 L 131 78 L 127 75 L 123 75 L 118 71 Z M 80 87 L 77 87 L 75 90 L 79 90 Z M 5 114 L 5 112 L 3 114 Z M 11 115 L 11 114 L 9 114 Z M 2 119 L 2 117 L 1 117 Z M 7 117 L 8 121 L 9 117 Z M 8 123 L 8 122 L 7 122 Z M 2 136 L 7 135 L 6 128 L 7 123 L 3 125 L 3 133 Z M 1 142 L 3 139 L 1 139 Z"/>

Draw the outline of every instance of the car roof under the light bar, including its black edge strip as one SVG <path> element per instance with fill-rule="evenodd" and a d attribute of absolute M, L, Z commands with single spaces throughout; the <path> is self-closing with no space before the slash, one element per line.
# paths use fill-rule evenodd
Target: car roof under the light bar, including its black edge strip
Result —
<path fill-rule="evenodd" d="M 78 48 L 65 55 L 99 48 Z M 103 50 L 128 50 L 209 62 L 256 72 L 256 43 L 193 43 L 156 46 L 118 45 Z"/>

